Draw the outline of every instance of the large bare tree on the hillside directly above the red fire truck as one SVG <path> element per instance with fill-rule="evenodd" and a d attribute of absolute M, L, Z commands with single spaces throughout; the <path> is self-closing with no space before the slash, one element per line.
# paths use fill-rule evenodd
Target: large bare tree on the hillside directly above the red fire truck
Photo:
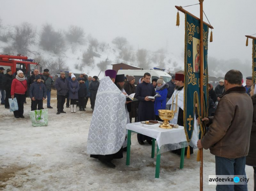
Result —
<path fill-rule="evenodd" d="M 35 32 L 36 30 L 28 22 L 15 26 L 14 32 L 9 32 L 9 36 L 13 40 L 13 47 L 21 54 L 30 52 L 28 48 L 35 42 Z"/>

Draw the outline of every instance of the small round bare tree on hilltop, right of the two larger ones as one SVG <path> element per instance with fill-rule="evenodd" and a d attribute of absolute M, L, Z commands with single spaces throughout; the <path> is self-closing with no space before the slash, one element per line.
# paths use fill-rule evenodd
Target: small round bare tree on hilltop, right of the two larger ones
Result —
<path fill-rule="evenodd" d="M 85 32 L 84 29 L 78 26 L 70 25 L 67 32 L 65 32 L 66 38 L 69 42 L 78 43 L 80 45 L 85 44 Z"/>

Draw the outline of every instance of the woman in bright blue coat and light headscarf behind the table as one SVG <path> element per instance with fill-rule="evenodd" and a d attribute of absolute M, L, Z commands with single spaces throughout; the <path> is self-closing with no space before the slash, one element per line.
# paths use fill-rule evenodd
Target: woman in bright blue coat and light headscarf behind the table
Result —
<path fill-rule="evenodd" d="M 156 84 L 156 93 L 158 92 L 161 95 L 161 97 L 155 98 L 155 115 L 157 121 L 163 121 L 159 118 L 158 109 L 166 108 L 166 98 L 168 93 L 167 88 L 169 87 L 169 85 L 165 84 L 162 79 L 158 79 Z"/>

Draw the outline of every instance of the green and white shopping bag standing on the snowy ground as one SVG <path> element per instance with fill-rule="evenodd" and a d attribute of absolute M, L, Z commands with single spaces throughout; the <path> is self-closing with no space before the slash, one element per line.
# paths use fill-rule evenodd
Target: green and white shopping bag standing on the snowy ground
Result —
<path fill-rule="evenodd" d="M 48 109 L 29 111 L 33 127 L 48 125 Z"/>

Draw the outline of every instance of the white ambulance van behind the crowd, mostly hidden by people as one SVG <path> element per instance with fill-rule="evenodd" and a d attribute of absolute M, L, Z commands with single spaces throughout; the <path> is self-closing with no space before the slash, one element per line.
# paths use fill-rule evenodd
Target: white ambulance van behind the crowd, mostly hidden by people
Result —
<path fill-rule="evenodd" d="M 155 79 L 159 79 L 160 77 L 163 78 L 163 81 L 165 81 L 165 83 L 169 82 L 172 77 L 165 71 L 161 70 L 161 69 L 153 69 L 153 70 L 118 70 L 117 74 L 125 74 L 125 76 L 128 75 L 132 75 L 135 77 L 135 83 L 134 85 L 137 85 L 139 83 L 139 80 L 141 77 L 144 76 L 144 73 L 150 73 L 151 74 L 151 82 L 152 80 Z"/>

